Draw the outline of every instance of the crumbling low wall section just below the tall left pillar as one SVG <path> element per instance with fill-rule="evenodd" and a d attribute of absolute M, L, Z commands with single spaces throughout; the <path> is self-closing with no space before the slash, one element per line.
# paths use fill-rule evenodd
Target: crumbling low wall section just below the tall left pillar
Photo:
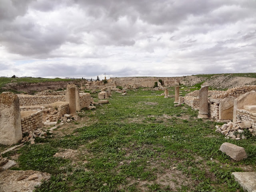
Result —
<path fill-rule="evenodd" d="M 64 114 L 69 114 L 68 102 L 51 103 L 44 109 L 43 120 L 58 121 Z"/>

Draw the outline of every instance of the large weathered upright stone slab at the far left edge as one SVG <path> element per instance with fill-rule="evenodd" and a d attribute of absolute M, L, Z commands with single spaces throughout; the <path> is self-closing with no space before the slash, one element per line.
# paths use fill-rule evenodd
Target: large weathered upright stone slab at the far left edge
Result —
<path fill-rule="evenodd" d="M 12 145 L 22 140 L 20 102 L 16 94 L 0 94 L 0 143 Z"/>

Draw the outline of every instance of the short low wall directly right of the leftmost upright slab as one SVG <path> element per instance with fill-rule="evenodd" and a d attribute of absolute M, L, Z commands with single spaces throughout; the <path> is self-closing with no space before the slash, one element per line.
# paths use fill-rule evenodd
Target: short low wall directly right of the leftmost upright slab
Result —
<path fill-rule="evenodd" d="M 43 126 L 42 118 L 43 111 L 22 111 L 21 114 L 21 128 L 22 134 L 34 131 Z"/>

